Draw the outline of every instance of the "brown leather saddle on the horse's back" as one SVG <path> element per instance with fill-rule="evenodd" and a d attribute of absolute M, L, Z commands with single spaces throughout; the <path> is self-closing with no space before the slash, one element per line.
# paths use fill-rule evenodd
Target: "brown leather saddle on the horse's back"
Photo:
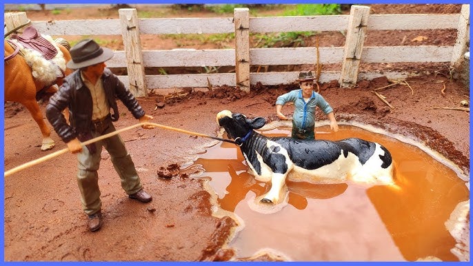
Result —
<path fill-rule="evenodd" d="M 21 35 L 13 34 L 10 39 L 17 40 L 25 48 L 38 51 L 47 60 L 54 58 L 57 54 L 56 48 L 48 40 L 44 39 L 41 34 L 38 34 L 38 31 L 33 26 L 25 28 Z"/>

